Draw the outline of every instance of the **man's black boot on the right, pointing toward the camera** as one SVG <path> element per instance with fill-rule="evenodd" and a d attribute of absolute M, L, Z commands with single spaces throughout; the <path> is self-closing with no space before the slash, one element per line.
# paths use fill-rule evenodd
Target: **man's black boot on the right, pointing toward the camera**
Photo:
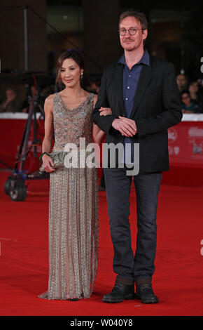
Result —
<path fill-rule="evenodd" d="M 136 299 L 141 299 L 141 303 L 158 303 L 158 297 L 153 292 L 150 282 L 137 282 L 136 284 Z"/>

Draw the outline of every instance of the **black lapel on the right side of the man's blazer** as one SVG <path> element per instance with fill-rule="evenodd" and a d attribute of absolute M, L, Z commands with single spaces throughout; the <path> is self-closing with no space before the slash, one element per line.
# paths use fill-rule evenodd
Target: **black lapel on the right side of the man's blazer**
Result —
<path fill-rule="evenodd" d="M 142 70 L 141 70 L 141 74 L 140 74 L 140 77 L 139 77 L 139 83 L 137 85 L 137 91 L 134 95 L 134 104 L 133 104 L 133 107 L 132 107 L 132 112 L 130 114 L 130 119 L 132 119 L 134 117 L 134 114 L 137 110 L 137 107 L 138 107 L 140 101 L 141 101 L 141 98 L 143 97 L 144 92 L 145 92 L 148 84 L 150 84 L 151 71 L 152 71 L 152 68 L 151 68 L 151 66 L 148 66 L 148 65 L 144 65 Z M 137 114 L 138 113 L 136 113 L 136 117 L 137 117 Z"/>

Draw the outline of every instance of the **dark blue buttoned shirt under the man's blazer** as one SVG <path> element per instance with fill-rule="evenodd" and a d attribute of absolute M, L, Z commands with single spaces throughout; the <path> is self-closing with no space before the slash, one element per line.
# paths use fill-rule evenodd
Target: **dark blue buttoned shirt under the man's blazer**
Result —
<path fill-rule="evenodd" d="M 129 67 L 127 67 L 127 64 L 125 62 L 125 55 L 123 54 L 120 58 L 120 60 L 118 60 L 118 63 L 121 63 L 124 65 L 123 68 L 123 101 L 124 101 L 124 105 L 125 105 L 125 113 L 126 113 L 126 117 L 130 118 L 130 114 L 132 112 L 132 107 L 133 107 L 133 103 L 134 103 L 134 95 L 137 91 L 137 85 L 139 83 L 139 77 L 141 74 L 141 70 L 143 65 L 150 65 L 150 60 L 149 60 L 149 54 L 148 51 L 145 50 L 144 54 L 141 58 L 141 60 L 139 60 L 139 62 L 137 62 L 135 65 L 133 65 L 133 67 L 131 68 L 131 70 L 129 69 Z M 125 143 L 130 143 L 131 144 L 131 159 L 130 159 L 130 155 L 128 152 L 128 149 L 126 149 L 126 147 L 124 147 L 124 158 L 123 158 L 123 162 L 125 164 L 130 164 L 133 163 L 133 143 L 132 143 L 132 138 L 124 138 L 124 146 Z M 126 151 L 125 151 L 126 149 Z"/>

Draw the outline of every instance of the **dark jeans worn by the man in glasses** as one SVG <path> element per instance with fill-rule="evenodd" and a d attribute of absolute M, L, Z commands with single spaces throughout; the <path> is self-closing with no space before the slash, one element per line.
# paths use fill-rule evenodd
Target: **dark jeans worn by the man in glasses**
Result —
<path fill-rule="evenodd" d="M 134 176 L 137 197 L 137 249 L 134 256 L 130 232 L 130 187 L 126 168 L 104 169 L 108 215 L 113 242 L 113 270 L 128 279 L 151 278 L 155 271 L 156 213 L 161 173 Z"/>

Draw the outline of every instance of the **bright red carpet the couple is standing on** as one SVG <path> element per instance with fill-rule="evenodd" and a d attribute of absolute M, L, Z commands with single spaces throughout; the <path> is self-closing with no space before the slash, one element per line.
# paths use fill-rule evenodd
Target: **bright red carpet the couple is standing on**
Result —
<path fill-rule="evenodd" d="M 116 277 L 106 192 L 99 192 L 99 269 L 92 297 L 77 302 L 46 301 L 38 294 L 48 287 L 48 180 L 29 181 L 25 202 L 11 202 L 3 192 L 8 174 L 0 172 L 0 315 L 203 315 L 203 187 L 161 186 L 153 277 L 159 304 L 101 301 Z M 132 187 L 130 220 L 134 232 L 135 212 Z M 132 244 L 135 246 L 134 240 Z"/>

